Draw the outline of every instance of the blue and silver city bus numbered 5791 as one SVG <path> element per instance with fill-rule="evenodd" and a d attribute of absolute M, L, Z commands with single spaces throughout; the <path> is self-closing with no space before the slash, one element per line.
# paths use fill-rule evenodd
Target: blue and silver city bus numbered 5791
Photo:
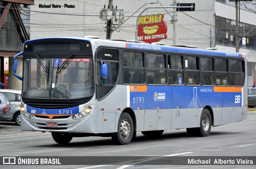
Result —
<path fill-rule="evenodd" d="M 22 77 L 16 58 L 23 56 Z M 22 131 L 112 137 L 167 129 L 208 136 L 247 118 L 246 54 L 92 38 L 28 40 L 14 56 Z"/>

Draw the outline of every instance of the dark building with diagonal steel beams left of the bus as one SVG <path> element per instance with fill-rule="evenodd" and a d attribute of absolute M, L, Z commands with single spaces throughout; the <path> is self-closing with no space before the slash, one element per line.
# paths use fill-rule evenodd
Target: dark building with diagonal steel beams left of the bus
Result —
<path fill-rule="evenodd" d="M 34 0 L 0 1 L 0 82 L 10 89 L 21 89 L 21 82 L 12 71 L 4 75 L 4 58 L 9 59 L 9 70 L 12 70 L 14 55 L 21 52 L 23 43 L 30 39 L 30 5 L 33 4 Z M 18 72 L 22 74 L 21 63 Z"/>

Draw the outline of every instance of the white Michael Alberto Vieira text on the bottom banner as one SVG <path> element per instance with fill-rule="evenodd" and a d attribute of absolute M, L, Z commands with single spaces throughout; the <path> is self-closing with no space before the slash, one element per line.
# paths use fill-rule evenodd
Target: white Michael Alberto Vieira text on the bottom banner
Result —
<path fill-rule="evenodd" d="M 213 160 L 213 159 L 212 159 Z M 242 165 L 242 164 L 253 164 L 252 160 L 248 159 L 214 159 L 214 162 L 211 163 L 211 159 L 207 160 L 200 160 L 200 159 L 188 159 L 188 164 L 235 164 L 235 165 Z"/>

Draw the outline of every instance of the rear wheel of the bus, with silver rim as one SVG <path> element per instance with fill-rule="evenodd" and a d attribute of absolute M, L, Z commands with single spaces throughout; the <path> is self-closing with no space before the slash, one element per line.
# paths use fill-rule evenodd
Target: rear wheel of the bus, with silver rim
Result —
<path fill-rule="evenodd" d="M 200 117 L 200 127 L 187 128 L 188 135 L 207 137 L 212 129 L 212 116 L 208 109 L 203 109 Z"/>

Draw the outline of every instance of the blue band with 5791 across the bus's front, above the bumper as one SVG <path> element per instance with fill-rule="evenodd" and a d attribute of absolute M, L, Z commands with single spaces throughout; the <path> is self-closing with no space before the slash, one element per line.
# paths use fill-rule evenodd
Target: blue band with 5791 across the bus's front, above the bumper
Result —
<path fill-rule="evenodd" d="M 41 115 L 71 115 L 79 113 L 79 106 L 70 107 L 66 109 L 39 109 L 35 107 L 27 107 L 27 112 L 32 114 L 41 114 Z"/>

